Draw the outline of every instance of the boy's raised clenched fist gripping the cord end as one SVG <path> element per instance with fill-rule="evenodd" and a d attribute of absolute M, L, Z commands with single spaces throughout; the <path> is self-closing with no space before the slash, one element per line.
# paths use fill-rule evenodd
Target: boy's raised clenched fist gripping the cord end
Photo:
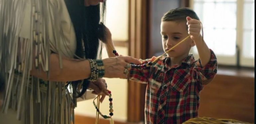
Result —
<path fill-rule="evenodd" d="M 188 25 L 188 33 L 191 35 L 191 39 L 194 41 L 198 41 L 201 39 L 200 31 L 201 31 L 201 22 L 196 19 L 192 19 L 187 17 L 187 25 Z"/>

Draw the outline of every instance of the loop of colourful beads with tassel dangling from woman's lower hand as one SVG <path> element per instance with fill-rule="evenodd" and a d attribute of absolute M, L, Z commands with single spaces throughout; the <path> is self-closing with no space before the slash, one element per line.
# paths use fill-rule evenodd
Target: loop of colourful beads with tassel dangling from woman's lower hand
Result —
<path fill-rule="evenodd" d="M 112 99 L 111 91 L 108 91 L 108 93 L 110 94 L 109 99 L 108 99 L 109 102 L 110 102 L 110 103 L 109 103 L 109 108 L 110 108 L 110 109 L 109 109 L 109 112 L 110 112 L 109 115 L 110 115 L 110 116 L 103 115 L 103 114 L 99 111 L 97 105 L 96 105 L 95 102 L 94 102 L 98 97 L 96 97 L 96 98 L 93 100 L 93 105 L 94 105 L 94 107 L 96 108 L 97 112 L 98 112 L 103 118 L 105 118 L 105 119 L 110 118 L 111 121 L 113 121 L 113 119 L 112 119 L 112 116 L 114 115 L 114 114 L 113 114 L 113 111 L 114 111 L 114 110 L 113 110 L 113 103 L 112 103 L 112 100 L 113 100 L 113 99 Z"/>

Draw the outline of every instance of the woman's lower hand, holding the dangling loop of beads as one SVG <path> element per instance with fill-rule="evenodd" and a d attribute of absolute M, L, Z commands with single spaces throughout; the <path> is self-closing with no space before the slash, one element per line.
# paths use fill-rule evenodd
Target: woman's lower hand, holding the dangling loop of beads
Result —
<path fill-rule="evenodd" d="M 106 83 L 105 79 L 102 79 L 102 78 L 98 78 L 96 81 L 90 82 L 88 89 L 93 90 L 92 94 L 101 95 L 100 103 L 103 102 L 106 95 L 107 96 L 110 95 L 107 90 L 107 83 Z"/>

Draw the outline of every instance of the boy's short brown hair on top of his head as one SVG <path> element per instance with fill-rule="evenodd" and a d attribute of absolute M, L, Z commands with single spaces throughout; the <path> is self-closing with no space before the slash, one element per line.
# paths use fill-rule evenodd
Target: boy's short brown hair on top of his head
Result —
<path fill-rule="evenodd" d="M 192 19 L 199 20 L 198 16 L 193 10 L 183 7 L 169 10 L 162 17 L 161 21 L 187 21 L 187 16 L 191 17 Z"/>

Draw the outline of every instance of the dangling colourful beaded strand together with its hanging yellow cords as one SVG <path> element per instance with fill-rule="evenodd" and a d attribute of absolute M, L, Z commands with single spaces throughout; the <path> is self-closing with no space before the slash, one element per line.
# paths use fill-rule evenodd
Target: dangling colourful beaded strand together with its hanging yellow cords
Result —
<path fill-rule="evenodd" d="M 99 101 L 100 101 L 100 96 L 98 95 L 98 97 L 96 97 L 94 100 L 93 100 L 93 105 L 94 105 L 94 107 L 96 108 L 96 121 L 95 121 L 95 124 L 98 124 L 99 123 L 99 115 L 101 115 L 103 118 L 105 118 L 105 119 L 110 119 L 110 124 L 114 124 L 114 121 L 113 121 L 113 119 L 112 119 L 112 116 L 114 115 L 113 114 L 113 103 L 112 103 L 112 94 L 111 94 L 111 91 L 108 91 L 108 93 L 110 94 L 110 96 L 109 96 L 109 115 L 110 116 L 107 116 L 107 115 L 103 115 L 100 111 L 99 111 Z M 97 105 L 96 105 L 96 103 L 94 102 L 95 100 L 97 99 Z"/>

